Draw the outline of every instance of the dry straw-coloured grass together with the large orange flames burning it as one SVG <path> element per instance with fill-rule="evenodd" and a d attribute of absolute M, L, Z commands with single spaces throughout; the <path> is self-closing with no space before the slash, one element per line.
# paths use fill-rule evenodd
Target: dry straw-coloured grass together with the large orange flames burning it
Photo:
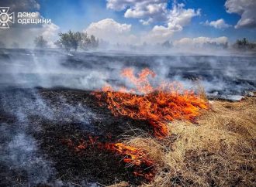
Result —
<path fill-rule="evenodd" d="M 208 104 L 202 87 L 198 94 L 173 83 L 153 87 L 148 76 L 155 75 L 148 69 L 137 76 L 127 69 L 122 75 L 135 90 L 116 92 L 109 86 L 94 94 L 115 116 L 146 120 L 154 127 L 157 138 L 123 142 L 154 161 L 157 175 L 143 186 L 256 185 L 256 98 Z"/>

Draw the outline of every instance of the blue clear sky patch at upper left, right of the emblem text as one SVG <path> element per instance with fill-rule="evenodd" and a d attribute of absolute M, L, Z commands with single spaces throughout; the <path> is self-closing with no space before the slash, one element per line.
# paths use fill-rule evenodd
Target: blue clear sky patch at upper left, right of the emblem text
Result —
<path fill-rule="evenodd" d="M 137 19 L 126 19 L 125 11 L 116 12 L 106 8 L 106 0 L 41 0 L 40 12 L 53 20 L 62 30 L 83 30 L 92 22 L 102 19 L 115 19 L 116 22 L 132 24 L 134 32 L 148 29 L 141 26 Z"/>

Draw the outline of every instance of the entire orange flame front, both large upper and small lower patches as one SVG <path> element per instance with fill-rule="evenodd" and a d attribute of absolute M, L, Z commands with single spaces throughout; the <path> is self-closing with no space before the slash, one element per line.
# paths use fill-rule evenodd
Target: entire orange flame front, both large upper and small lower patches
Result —
<path fill-rule="evenodd" d="M 124 69 L 121 75 L 130 80 L 133 89 L 121 87 L 115 91 L 111 86 L 106 86 L 95 91 L 93 95 L 99 99 L 101 105 L 107 104 L 115 116 L 148 121 L 157 138 L 168 136 L 168 121 L 194 121 L 195 117 L 199 116 L 200 109 L 209 107 L 206 100 L 192 90 L 183 89 L 179 83 L 162 82 L 160 86 L 153 87 L 149 78 L 155 78 L 156 74 L 149 69 L 142 70 L 137 76 L 134 75 L 133 69 Z M 147 181 L 154 178 L 154 162 L 139 148 L 123 143 L 102 143 L 92 137 L 89 137 L 88 141 L 81 140 L 78 144 L 71 140 L 66 143 L 76 152 L 81 152 L 89 146 L 110 151 L 122 156 L 122 161 L 133 167 L 135 176 L 144 177 Z"/>

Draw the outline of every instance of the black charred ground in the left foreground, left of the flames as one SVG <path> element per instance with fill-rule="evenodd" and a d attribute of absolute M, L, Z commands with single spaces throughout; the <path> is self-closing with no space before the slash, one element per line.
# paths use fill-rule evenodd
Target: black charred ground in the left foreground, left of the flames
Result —
<path fill-rule="evenodd" d="M 12 97 L 9 97 L 9 94 Z M 24 96 L 28 100 L 20 102 Z M 38 97 L 40 97 L 40 101 Z M 9 110 L 5 105 L 6 100 L 9 102 Z M 40 106 L 42 100 L 47 104 L 47 106 L 43 106 L 43 109 Z M 50 161 L 51 170 L 54 172 L 47 177 L 47 183 L 61 180 L 71 184 L 98 182 L 103 185 L 111 185 L 115 182 L 126 181 L 131 185 L 138 185 L 140 182 L 145 182 L 143 178 L 134 177 L 133 168 L 126 167 L 121 162 L 121 156 L 93 146 L 78 153 L 69 148 L 65 141 L 70 139 L 78 143 L 81 139 L 86 140 L 88 135 L 92 135 L 99 137 L 101 142 L 117 142 L 126 135 L 137 135 L 142 131 L 151 133 L 152 129 L 149 128 L 147 122 L 133 121 L 126 117 L 114 117 L 106 107 L 99 107 L 98 100 L 88 91 L 61 88 L 37 88 L 33 91 L 11 89 L 6 90 L 5 93 L 2 92 L 1 101 L 0 124 L 2 124 L 2 128 L 5 128 L 5 133 L 7 131 L 5 126 L 10 134 L 24 131 L 36 140 L 37 157 L 43 157 L 44 160 Z M 71 106 L 75 109 L 71 110 Z M 75 117 L 76 113 L 86 112 L 84 109 L 78 111 L 78 106 L 86 107 L 86 110 L 92 115 L 89 123 L 84 124 L 82 119 L 78 120 Z M 24 117 L 20 119 L 16 110 L 19 107 L 26 114 L 26 119 Z M 50 113 L 46 108 L 49 108 L 50 112 L 54 111 L 50 117 L 46 115 L 47 112 Z M 64 110 L 67 112 L 63 113 Z M 134 130 L 130 131 L 130 129 Z M 6 151 L 4 147 L 9 146 L 13 137 L 7 135 L 9 133 L 0 138 L 2 151 L 6 152 L 7 156 L 10 156 L 8 155 L 9 151 Z M 0 168 L 0 186 L 38 185 L 36 182 L 29 182 L 31 173 L 26 171 L 26 167 L 0 162 Z"/>

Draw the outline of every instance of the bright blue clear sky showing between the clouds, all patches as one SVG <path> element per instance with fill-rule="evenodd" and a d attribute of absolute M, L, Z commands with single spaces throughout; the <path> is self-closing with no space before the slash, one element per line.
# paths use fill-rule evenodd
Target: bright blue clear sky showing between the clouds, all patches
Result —
<path fill-rule="evenodd" d="M 139 1 L 138 1 L 139 2 Z M 228 13 L 225 8 L 226 0 L 179 0 L 177 3 L 184 3 L 184 8 L 201 9 L 201 15 L 192 18 L 188 26 L 184 26 L 182 32 L 175 32 L 173 39 L 183 37 L 220 37 L 228 36 L 230 41 L 237 38 L 247 37 L 255 40 L 255 29 L 240 28 L 234 26 L 240 19 L 236 13 Z M 143 26 L 140 19 L 125 18 L 125 8 L 121 11 L 106 8 L 105 0 L 40 0 L 40 13 L 46 18 L 52 19 L 54 24 L 61 28 L 61 31 L 72 29 L 80 31 L 86 29 L 92 22 L 99 22 L 102 19 L 114 19 L 119 23 L 131 24 L 131 32 L 150 31 L 157 22 L 150 26 Z M 168 9 L 171 9 L 173 1 L 168 1 Z M 230 25 L 226 29 L 216 29 L 213 26 L 206 26 L 203 22 L 218 19 Z"/>

